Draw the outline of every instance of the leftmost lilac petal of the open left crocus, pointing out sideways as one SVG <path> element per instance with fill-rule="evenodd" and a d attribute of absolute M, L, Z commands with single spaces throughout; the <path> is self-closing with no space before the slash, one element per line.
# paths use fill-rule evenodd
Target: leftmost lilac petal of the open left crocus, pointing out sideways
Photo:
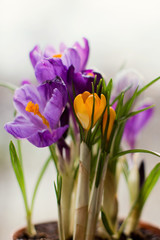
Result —
<path fill-rule="evenodd" d="M 38 126 L 32 124 L 22 116 L 18 116 L 13 122 L 7 123 L 4 128 L 18 139 L 28 138 L 38 130 Z"/>

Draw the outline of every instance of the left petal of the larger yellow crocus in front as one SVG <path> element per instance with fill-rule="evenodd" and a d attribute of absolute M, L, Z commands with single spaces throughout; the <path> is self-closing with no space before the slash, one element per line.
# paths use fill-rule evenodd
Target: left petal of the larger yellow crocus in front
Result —
<path fill-rule="evenodd" d="M 82 127 L 84 129 L 89 129 L 90 128 L 90 117 L 89 117 L 86 105 L 83 101 L 82 94 L 79 94 L 75 97 L 74 110 L 75 110 L 76 116 L 78 117 Z"/>

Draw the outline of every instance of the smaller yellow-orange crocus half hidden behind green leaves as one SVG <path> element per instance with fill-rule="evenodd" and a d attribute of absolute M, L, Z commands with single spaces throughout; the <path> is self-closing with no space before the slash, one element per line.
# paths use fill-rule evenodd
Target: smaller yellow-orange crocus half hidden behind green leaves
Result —
<path fill-rule="evenodd" d="M 107 141 L 109 141 L 111 132 L 112 132 L 112 128 L 113 128 L 113 124 L 116 118 L 116 112 L 112 107 L 109 107 L 109 125 L 108 125 L 108 130 L 107 130 Z M 105 128 L 107 125 L 107 120 L 108 120 L 108 109 L 105 110 L 105 113 L 103 115 L 103 134 L 105 132 Z"/>

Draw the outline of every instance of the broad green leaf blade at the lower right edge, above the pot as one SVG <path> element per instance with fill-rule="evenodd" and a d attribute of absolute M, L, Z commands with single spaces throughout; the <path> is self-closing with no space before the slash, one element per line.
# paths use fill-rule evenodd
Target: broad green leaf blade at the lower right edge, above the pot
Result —
<path fill-rule="evenodd" d="M 149 194 L 151 193 L 152 189 L 154 188 L 155 184 L 157 183 L 160 177 L 160 163 L 158 163 L 150 172 L 144 185 L 140 191 L 139 197 L 137 202 L 139 203 L 140 210 L 142 210 Z"/>

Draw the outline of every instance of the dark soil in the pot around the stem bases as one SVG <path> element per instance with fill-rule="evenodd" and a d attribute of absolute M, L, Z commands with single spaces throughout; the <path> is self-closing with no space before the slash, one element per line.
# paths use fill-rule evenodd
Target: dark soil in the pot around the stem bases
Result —
<path fill-rule="evenodd" d="M 57 223 L 56 222 L 48 222 L 44 224 L 38 224 L 35 226 L 37 230 L 37 235 L 33 238 L 28 238 L 25 234 L 24 230 L 20 231 L 16 238 L 13 240 L 59 240 L 58 239 L 58 231 L 57 231 Z M 151 229 L 140 228 L 136 232 L 132 233 L 130 240 L 160 240 L 160 230 L 158 234 L 158 230 L 154 231 Z M 70 239 L 72 240 L 72 239 Z M 99 237 L 96 237 L 95 240 L 102 240 Z M 106 239 L 107 240 L 107 239 Z M 120 240 L 128 240 L 128 238 L 122 234 Z"/>

